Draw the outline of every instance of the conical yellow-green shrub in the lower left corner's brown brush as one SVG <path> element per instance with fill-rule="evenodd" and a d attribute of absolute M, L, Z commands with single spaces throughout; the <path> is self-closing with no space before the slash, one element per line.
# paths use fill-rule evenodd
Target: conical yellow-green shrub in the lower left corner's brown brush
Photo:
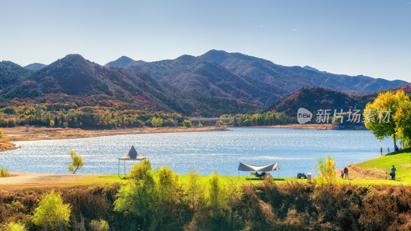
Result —
<path fill-rule="evenodd" d="M 49 194 L 40 197 L 39 207 L 34 209 L 32 222 L 45 229 L 55 230 L 69 226 L 70 214 L 70 204 L 64 204 L 61 196 L 51 190 Z"/>

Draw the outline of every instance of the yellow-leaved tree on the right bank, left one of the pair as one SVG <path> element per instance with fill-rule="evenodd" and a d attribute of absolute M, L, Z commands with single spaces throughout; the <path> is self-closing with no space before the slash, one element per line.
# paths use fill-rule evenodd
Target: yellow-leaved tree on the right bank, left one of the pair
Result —
<path fill-rule="evenodd" d="M 400 90 L 382 92 L 374 102 L 369 102 L 364 109 L 365 127 L 371 130 L 371 133 L 378 139 L 392 137 L 394 147 L 396 143 L 397 123 L 394 120 L 398 107 L 401 103 L 408 101 L 409 98 L 404 91 Z"/>

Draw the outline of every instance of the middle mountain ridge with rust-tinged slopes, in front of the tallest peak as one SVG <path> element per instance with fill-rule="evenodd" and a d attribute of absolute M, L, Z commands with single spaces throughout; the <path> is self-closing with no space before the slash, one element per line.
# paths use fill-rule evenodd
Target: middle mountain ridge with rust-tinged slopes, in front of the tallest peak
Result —
<path fill-rule="evenodd" d="M 144 63 L 127 69 L 135 73 L 150 73 L 184 93 L 223 97 L 249 104 L 266 105 L 287 93 L 250 76 L 233 73 L 204 56 L 182 55 L 175 60 Z"/>

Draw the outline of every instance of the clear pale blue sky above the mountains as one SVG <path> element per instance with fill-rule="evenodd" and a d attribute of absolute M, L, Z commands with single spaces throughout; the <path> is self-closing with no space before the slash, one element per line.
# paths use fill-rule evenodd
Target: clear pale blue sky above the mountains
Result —
<path fill-rule="evenodd" d="M 411 82 L 411 0 L 3 1 L 0 60 L 104 65 L 217 49 Z"/>

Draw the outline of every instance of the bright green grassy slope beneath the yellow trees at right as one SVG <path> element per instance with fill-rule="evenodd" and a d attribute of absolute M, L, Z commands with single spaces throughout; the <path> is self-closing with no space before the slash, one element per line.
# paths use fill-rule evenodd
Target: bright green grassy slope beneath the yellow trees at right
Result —
<path fill-rule="evenodd" d="M 391 152 L 387 155 L 357 164 L 359 167 L 373 168 L 382 172 L 390 172 L 393 165 L 397 169 L 396 179 L 411 180 L 411 148 Z"/>

